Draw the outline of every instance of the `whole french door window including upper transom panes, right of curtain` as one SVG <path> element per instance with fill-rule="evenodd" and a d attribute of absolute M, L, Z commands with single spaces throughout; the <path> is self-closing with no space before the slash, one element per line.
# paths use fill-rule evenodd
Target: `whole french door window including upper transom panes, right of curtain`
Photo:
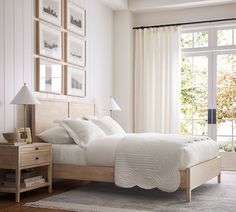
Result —
<path fill-rule="evenodd" d="M 236 25 L 185 29 L 181 42 L 181 134 L 208 135 L 236 151 Z"/>

